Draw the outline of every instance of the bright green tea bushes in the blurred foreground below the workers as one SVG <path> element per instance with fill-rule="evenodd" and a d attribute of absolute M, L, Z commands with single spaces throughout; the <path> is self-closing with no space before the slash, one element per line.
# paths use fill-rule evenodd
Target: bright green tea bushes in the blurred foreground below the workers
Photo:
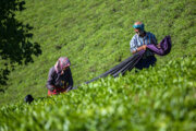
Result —
<path fill-rule="evenodd" d="M 196 57 L 0 110 L 2 131 L 194 131 Z"/>

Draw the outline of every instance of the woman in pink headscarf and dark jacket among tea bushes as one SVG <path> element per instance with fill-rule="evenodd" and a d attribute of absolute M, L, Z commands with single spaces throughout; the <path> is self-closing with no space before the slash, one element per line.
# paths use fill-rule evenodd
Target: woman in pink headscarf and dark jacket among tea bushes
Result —
<path fill-rule="evenodd" d="M 66 57 L 60 57 L 56 66 L 50 69 L 46 85 L 49 96 L 72 90 L 73 79 L 70 66 L 71 62 Z"/>

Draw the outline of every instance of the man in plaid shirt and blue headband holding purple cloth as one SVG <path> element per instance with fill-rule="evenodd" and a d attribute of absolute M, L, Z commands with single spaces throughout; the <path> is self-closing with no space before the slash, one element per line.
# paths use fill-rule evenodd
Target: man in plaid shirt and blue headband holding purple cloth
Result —
<path fill-rule="evenodd" d="M 157 39 L 152 33 L 146 32 L 142 22 L 136 22 L 134 25 L 135 35 L 130 41 L 131 52 L 135 53 L 140 50 L 146 50 L 143 58 L 135 66 L 136 69 L 149 68 L 155 66 L 157 59 L 155 55 L 147 49 L 147 45 L 157 45 Z"/>

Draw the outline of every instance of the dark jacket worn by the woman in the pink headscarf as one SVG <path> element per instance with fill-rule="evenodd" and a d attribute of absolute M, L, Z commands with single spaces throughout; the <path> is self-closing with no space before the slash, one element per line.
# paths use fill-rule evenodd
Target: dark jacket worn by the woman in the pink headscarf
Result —
<path fill-rule="evenodd" d="M 66 69 L 62 75 L 58 74 L 52 67 L 48 74 L 47 88 L 51 92 L 56 88 L 73 87 L 71 69 Z"/>

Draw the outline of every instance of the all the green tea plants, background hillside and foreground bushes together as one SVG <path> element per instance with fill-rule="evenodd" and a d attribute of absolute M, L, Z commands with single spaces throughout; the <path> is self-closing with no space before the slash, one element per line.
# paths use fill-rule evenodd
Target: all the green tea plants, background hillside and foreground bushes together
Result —
<path fill-rule="evenodd" d="M 195 0 L 26 0 L 16 17 L 34 26 L 32 41 L 42 55 L 11 73 L 0 93 L 0 130 L 194 131 L 195 5 Z M 135 21 L 158 41 L 171 35 L 171 53 L 149 70 L 46 97 L 48 71 L 60 56 L 70 58 L 75 85 L 130 57 Z M 32 105 L 22 102 L 27 94 L 37 98 Z"/>

